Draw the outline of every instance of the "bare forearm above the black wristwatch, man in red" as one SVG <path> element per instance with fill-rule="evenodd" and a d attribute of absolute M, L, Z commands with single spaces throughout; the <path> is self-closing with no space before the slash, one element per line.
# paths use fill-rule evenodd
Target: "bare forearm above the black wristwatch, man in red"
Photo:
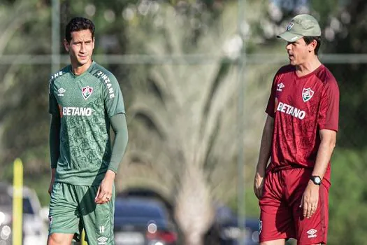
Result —
<path fill-rule="evenodd" d="M 334 130 L 319 130 L 319 134 L 321 142 L 312 176 L 320 176 L 323 179 L 336 145 L 336 132 Z"/>

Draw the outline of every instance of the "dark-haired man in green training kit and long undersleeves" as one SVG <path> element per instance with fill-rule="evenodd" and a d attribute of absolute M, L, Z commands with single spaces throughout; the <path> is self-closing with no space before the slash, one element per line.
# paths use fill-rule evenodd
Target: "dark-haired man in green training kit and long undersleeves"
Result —
<path fill-rule="evenodd" d="M 89 244 L 114 244 L 114 180 L 128 138 L 122 92 L 115 76 L 92 60 L 92 21 L 73 18 L 64 47 L 71 64 L 50 79 L 48 245 L 69 245 L 83 228 Z"/>

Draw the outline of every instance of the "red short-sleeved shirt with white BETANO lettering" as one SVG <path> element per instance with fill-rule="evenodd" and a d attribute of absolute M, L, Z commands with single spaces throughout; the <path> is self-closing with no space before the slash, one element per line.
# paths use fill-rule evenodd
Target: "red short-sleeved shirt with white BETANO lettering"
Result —
<path fill-rule="evenodd" d="M 338 83 L 324 65 L 301 77 L 294 66 L 283 66 L 275 74 L 266 113 L 274 118 L 268 171 L 313 168 L 319 130 L 338 132 Z M 330 162 L 324 179 L 330 181 Z"/>

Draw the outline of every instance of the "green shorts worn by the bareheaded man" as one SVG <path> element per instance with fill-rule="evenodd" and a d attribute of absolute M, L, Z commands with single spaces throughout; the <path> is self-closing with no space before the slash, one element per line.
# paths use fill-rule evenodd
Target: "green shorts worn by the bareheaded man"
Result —
<path fill-rule="evenodd" d="M 110 202 L 105 204 L 94 202 L 98 188 L 99 186 L 54 183 L 50 200 L 49 235 L 75 234 L 80 239 L 84 228 L 85 240 L 89 244 L 115 244 L 113 241 L 115 186 Z"/>

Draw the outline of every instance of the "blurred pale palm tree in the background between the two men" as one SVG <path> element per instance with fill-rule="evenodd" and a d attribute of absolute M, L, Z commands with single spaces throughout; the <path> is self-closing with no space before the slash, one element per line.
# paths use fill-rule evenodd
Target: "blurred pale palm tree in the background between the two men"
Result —
<path fill-rule="evenodd" d="M 202 244 L 215 217 L 213 200 L 226 200 L 236 191 L 233 162 L 237 151 L 238 74 L 236 56 L 231 59 L 233 54 L 228 56 L 222 49 L 229 40 L 238 45 L 235 52 L 242 47 L 233 13 L 236 6 L 228 6 L 219 20 L 202 22 L 207 25 L 206 32 L 196 36 L 194 44 L 187 38 L 195 32 L 189 19 L 169 6 L 152 18 L 145 16 L 141 24 L 135 20 L 131 23 L 134 28 L 128 28 L 134 40 L 131 50 L 138 47 L 150 56 L 213 54 L 205 64 L 166 60 L 141 67 L 141 79 L 133 84 L 134 100 L 128 111 L 130 143 L 120 169 L 123 177 L 119 186 L 150 185 L 171 196 L 185 244 Z M 152 27 L 152 23 L 160 24 Z M 151 33 L 152 28 L 156 34 L 145 36 L 145 31 Z M 247 71 L 247 76 L 259 78 L 257 71 Z M 252 87 L 259 90 L 261 86 Z M 246 103 L 257 104 L 267 92 L 254 94 Z M 263 111 L 252 113 L 248 119 L 254 121 L 249 124 L 256 129 L 252 134 L 261 130 L 257 123 L 261 115 Z M 248 145 L 252 150 L 251 139 Z M 254 155 L 249 153 L 247 159 Z"/>

